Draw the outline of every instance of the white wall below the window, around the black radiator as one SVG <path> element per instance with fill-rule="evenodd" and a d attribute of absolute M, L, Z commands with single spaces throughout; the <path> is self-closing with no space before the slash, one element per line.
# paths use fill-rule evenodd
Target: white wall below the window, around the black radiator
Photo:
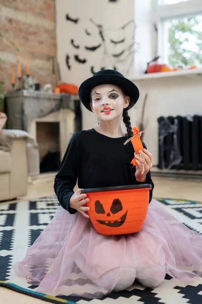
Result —
<path fill-rule="evenodd" d="M 202 115 L 201 76 L 135 81 L 140 90 L 136 104 L 136 122 L 140 120 L 144 95 L 147 93 L 145 109 L 144 142 L 158 164 L 158 122 L 160 116 Z"/>

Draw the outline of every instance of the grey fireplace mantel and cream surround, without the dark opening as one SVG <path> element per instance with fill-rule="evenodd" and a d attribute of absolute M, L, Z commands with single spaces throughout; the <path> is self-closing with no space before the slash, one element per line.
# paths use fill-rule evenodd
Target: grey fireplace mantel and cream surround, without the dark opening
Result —
<path fill-rule="evenodd" d="M 43 91 L 11 91 L 5 96 L 7 128 L 28 132 L 37 141 L 37 123 L 59 123 L 60 159 L 75 130 L 75 108 L 79 97 Z M 44 139 L 45 140 L 45 139 Z"/>

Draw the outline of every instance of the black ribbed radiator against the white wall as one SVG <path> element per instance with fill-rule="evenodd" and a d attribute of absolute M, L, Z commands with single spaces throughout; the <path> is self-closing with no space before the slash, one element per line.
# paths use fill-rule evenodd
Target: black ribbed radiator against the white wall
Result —
<path fill-rule="evenodd" d="M 159 117 L 160 169 L 202 169 L 202 116 Z"/>

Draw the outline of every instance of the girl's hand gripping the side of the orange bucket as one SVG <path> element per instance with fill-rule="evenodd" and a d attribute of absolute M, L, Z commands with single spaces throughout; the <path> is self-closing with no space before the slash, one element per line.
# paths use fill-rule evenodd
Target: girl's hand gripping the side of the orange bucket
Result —
<path fill-rule="evenodd" d="M 81 194 L 81 189 L 78 189 L 73 196 L 71 196 L 69 205 L 70 208 L 76 209 L 79 211 L 83 216 L 89 218 L 89 215 L 86 211 L 89 211 L 89 207 L 85 207 L 85 204 L 88 203 L 90 200 L 87 198 L 86 194 Z"/>

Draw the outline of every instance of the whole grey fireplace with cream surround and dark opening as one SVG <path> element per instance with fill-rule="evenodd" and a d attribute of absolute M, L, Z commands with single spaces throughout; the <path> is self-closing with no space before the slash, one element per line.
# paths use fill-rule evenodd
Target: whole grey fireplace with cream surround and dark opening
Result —
<path fill-rule="evenodd" d="M 55 157 L 57 171 L 72 134 L 82 128 L 79 96 L 11 91 L 5 95 L 5 112 L 8 129 L 24 130 L 37 141 L 41 170 Z"/>

